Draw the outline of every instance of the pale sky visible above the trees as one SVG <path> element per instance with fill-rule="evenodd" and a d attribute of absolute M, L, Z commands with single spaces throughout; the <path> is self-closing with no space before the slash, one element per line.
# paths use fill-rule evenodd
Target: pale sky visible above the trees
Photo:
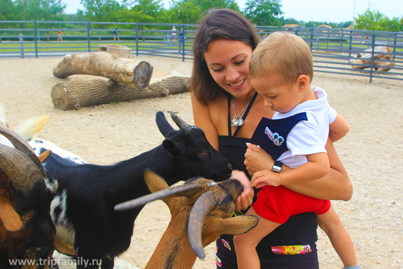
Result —
<path fill-rule="evenodd" d="M 165 9 L 169 9 L 170 1 L 161 0 Z M 67 5 L 64 13 L 76 14 L 77 9 L 84 10 L 80 0 L 64 0 Z M 247 0 L 236 0 L 241 10 L 245 8 Z M 293 18 L 297 21 L 318 22 L 346 22 L 352 21 L 357 14 L 364 14 L 368 8 L 392 19 L 403 16 L 403 0 L 281 0 L 281 11 L 285 19 Z"/>

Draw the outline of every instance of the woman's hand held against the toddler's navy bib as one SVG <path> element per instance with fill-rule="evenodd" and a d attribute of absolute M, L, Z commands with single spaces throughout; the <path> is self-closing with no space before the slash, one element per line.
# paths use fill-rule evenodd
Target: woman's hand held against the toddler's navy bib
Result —
<path fill-rule="evenodd" d="M 246 170 L 249 175 L 261 170 L 272 170 L 274 160 L 264 149 L 251 143 L 246 143 L 248 147 L 245 152 Z"/>

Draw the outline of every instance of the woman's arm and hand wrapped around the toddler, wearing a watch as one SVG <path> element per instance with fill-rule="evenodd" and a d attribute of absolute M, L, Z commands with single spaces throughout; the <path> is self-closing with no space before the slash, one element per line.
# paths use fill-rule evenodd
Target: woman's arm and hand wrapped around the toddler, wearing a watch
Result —
<path fill-rule="evenodd" d="M 330 172 L 327 176 L 304 184 L 286 185 L 287 188 L 307 196 L 326 199 L 348 201 L 353 195 L 353 187 L 343 164 L 335 151 L 330 138 L 325 146 L 330 163 Z M 248 144 L 245 153 L 245 165 L 250 175 L 260 170 L 272 170 L 273 158 L 262 148 Z M 283 166 L 282 172 L 290 168 Z"/>

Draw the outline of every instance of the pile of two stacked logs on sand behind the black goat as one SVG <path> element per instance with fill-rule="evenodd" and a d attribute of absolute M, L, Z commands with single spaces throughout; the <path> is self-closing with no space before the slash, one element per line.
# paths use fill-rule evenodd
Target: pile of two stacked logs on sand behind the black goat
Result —
<path fill-rule="evenodd" d="M 54 107 L 77 110 L 83 106 L 165 96 L 189 90 L 190 78 L 178 73 L 155 79 L 150 84 L 153 67 L 149 63 L 112 53 L 98 51 L 66 55 L 56 63 L 53 75 L 58 78 L 78 74 L 104 78 L 66 79 L 56 84 L 51 90 Z"/>

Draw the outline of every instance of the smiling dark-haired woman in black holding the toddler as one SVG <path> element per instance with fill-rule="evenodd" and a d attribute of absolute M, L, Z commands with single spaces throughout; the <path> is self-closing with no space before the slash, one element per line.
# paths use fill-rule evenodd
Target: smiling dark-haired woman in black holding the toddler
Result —
<path fill-rule="evenodd" d="M 274 114 L 264 107 L 263 98 L 255 93 L 248 78 L 250 57 L 259 40 L 242 15 L 221 9 L 211 10 L 204 17 L 193 43 L 194 123 L 205 131 L 213 147 L 230 160 L 233 169 L 243 171 L 249 179 L 254 172 L 272 170 L 274 166 L 274 160 L 264 150 L 246 144 L 260 119 L 272 118 Z M 331 172 L 325 178 L 287 187 L 320 199 L 349 200 L 352 186 L 330 140 L 326 150 Z M 251 196 L 257 194 L 247 187 L 243 172 L 233 174 L 246 186 L 238 197 L 237 210 L 250 206 Z M 314 213 L 291 217 L 257 246 L 261 267 L 318 268 L 316 228 Z M 221 235 L 216 243 L 218 267 L 237 268 L 232 236 Z M 295 255 L 282 255 L 289 253 Z"/>

